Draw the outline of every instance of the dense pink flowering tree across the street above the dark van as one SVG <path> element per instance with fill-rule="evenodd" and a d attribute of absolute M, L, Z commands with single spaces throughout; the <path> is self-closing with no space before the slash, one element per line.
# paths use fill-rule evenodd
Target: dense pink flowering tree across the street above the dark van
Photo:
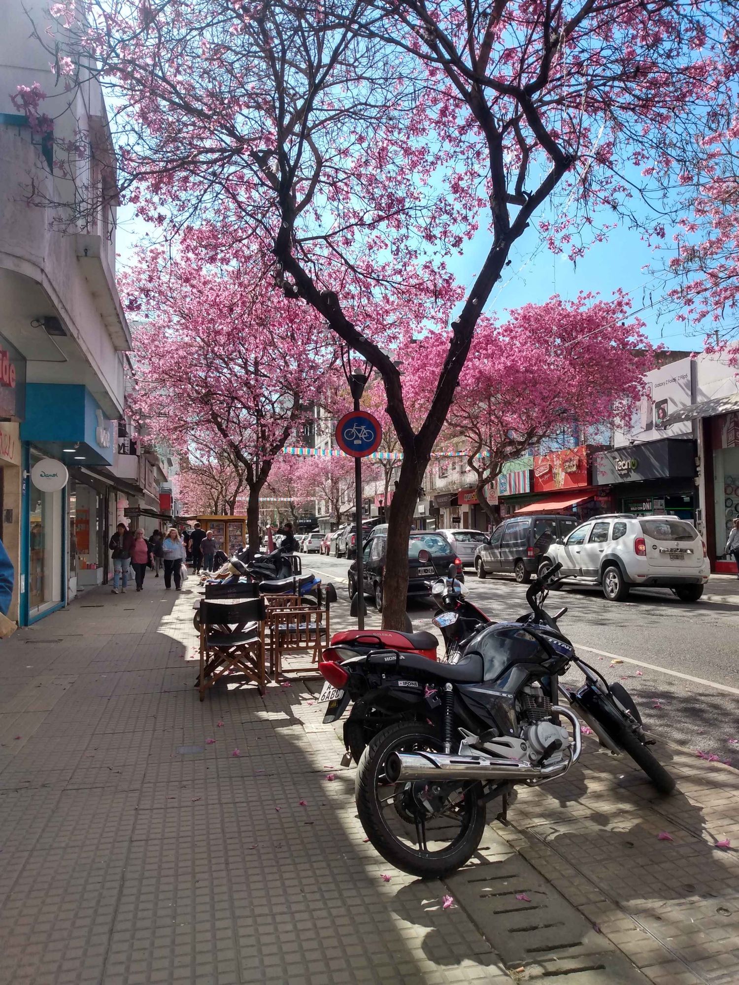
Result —
<path fill-rule="evenodd" d="M 608 424 L 638 399 L 652 355 L 643 323 L 629 320 L 629 306 L 623 295 L 604 301 L 583 294 L 525 304 L 502 325 L 480 319 L 444 433 L 463 440 L 477 497 L 491 519 L 486 490 L 507 459 L 573 425 Z M 432 335 L 405 367 L 419 399 L 429 367 L 444 351 L 444 340 Z"/>

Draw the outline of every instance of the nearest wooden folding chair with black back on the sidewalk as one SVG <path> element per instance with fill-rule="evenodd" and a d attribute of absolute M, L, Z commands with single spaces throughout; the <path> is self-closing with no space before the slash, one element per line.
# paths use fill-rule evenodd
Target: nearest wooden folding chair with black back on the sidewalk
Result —
<path fill-rule="evenodd" d="M 229 671 L 238 670 L 264 694 L 266 610 L 262 599 L 200 603 L 200 700 Z"/>

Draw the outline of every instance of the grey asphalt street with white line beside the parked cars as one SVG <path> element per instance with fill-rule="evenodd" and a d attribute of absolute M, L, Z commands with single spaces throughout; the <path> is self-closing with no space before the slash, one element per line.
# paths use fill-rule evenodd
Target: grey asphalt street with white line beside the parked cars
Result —
<path fill-rule="evenodd" d="M 303 555 L 302 563 L 305 571 L 333 581 L 346 605 L 345 559 Z M 465 577 L 472 600 L 492 618 L 514 619 L 526 612 L 526 588 L 512 578 L 481 581 L 471 569 Z M 595 588 L 567 586 L 552 592 L 547 602 L 550 612 L 563 606 L 568 613 L 560 626 L 578 655 L 631 691 L 647 728 L 739 768 L 739 580 L 711 576 L 696 603 L 680 602 L 663 589 L 633 592 L 627 602 L 606 602 Z M 435 613 L 431 603 L 408 606 L 416 629 L 433 630 Z M 371 606 L 368 624 L 379 624 Z"/>

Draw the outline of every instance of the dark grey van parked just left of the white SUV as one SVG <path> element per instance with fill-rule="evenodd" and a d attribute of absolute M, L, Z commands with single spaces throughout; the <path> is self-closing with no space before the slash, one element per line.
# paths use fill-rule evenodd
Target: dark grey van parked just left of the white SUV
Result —
<path fill-rule="evenodd" d="M 541 566 L 550 544 L 563 539 L 577 526 L 573 516 L 541 513 L 512 516 L 499 524 L 488 544 L 475 551 L 478 578 L 489 574 L 513 574 L 521 584 L 531 580 Z"/>

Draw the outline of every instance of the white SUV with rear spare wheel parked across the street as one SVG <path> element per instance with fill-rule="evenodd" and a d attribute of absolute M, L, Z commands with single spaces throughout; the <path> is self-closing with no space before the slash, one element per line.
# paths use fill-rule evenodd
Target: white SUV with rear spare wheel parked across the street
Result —
<path fill-rule="evenodd" d="M 676 516 L 593 517 L 550 546 L 539 572 L 558 561 L 561 578 L 601 585 L 609 602 L 638 587 L 671 588 L 683 602 L 698 602 L 710 573 L 701 535 Z"/>

